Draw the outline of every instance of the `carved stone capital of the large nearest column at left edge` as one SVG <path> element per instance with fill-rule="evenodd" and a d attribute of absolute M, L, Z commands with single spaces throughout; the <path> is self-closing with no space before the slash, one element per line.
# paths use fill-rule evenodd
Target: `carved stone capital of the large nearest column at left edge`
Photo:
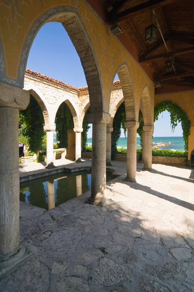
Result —
<path fill-rule="evenodd" d="M 12 85 L 0 83 L 0 107 L 25 110 L 30 102 L 30 92 Z"/>

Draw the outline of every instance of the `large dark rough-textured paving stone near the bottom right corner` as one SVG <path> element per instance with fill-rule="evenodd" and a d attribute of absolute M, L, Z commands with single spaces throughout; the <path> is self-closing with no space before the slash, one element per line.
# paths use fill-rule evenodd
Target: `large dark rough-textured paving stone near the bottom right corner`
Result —
<path fill-rule="evenodd" d="M 167 262 L 165 265 L 161 266 L 146 266 L 142 269 L 142 272 L 158 277 L 161 280 L 179 280 L 185 278 L 185 274 L 178 265 L 178 263 Z"/>

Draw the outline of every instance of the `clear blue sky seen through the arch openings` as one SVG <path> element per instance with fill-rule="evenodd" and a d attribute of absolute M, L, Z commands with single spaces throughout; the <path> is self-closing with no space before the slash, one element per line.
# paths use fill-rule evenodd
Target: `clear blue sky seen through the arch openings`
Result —
<path fill-rule="evenodd" d="M 80 58 L 61 23 L 46 23 L 40 29 L 32 44 L 27 69 L 76 87 L 87 85 Z M 115 79 L 118 79 L 117 76 Z M 154 127 L 155 137 L 182 136 L 180 124 L 174 133 L 171 131 L 167 111 L 159 116 Z M 121 136 L 124 137 L 123 132 Z M 92 128 L 88 131 L 88 137 L 92 137 Z"/>

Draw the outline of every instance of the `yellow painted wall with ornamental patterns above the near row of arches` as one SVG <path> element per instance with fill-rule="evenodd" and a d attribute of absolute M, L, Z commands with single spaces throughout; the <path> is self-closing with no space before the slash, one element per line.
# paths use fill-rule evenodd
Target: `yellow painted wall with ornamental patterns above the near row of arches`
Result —
<path fill-rule="evenodd" d="M 8 2 L 8 4 L 5 4 Z M 11 3 L 10 3 L 11 2 Z M 58 14 L 64 7 L 76 9 L 92 40 L 97 55 L 104 87 L 104 111 L 109 107 L 109 91 L 120 63 L 126 62 L 131 75 L 136 98 L 136 114 L 138 116 L 140 95 L 147 84 L 151 96 L 152 110 L 154 107 L 154 85 L 138 66 L 129 53 L 113 36 L 108 36 L 107 27 L 90 9 L 84 0 L 32 0 L 22 4 L 21 0 L 1 1 L 0 3 L 0 59 L 4 73 L 0 71 L 0 82 L 20 87 L 25 59 L 28 56 L 28 45 L 32 44 L 32 29 L 37 33 L 40 23 Z M 59 8 L 60 7 L 60 8 Z M 60 10 L 61 9 L 61 10 Z M 41 18 L 44 15 L 44 19 Z M 39 21 L 40 19 L 41 21 Z M 44 21 L 43 21 L 44 20 Z M 2 54 L 1 54 L 2 53 Z M 3 58 L 2 58 L 3 56 Z M 22 63 L 23 62 L 23 63 Z M 3 66 L 2 66 L 3 67 Z M 3 75 L 4 74 L 4 75 Z"/>

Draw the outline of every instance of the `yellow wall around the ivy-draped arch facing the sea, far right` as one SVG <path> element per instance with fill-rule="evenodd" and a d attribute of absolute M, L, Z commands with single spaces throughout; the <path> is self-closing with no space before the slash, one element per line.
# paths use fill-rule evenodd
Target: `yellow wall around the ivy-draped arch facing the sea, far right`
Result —
<path fill-rule="evenodd" d="M 165 100 L 176 103 L 187 113 L 191 121 L 188 149 L 188 159 L 190 160 L 191 151 L 194 150 L 194 91 L 155 95 L 155 105 Z"/>

